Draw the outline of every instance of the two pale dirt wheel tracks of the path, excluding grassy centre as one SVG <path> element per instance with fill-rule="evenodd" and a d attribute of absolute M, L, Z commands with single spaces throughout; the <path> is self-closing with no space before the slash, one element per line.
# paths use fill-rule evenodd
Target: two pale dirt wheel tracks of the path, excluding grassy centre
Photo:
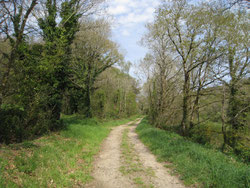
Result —
<path fill-rule="evenodd" d="M 134 188 L 134 187 L 158 187 L 158 188 L 182 188 L 184 187 L 177 177 L 171 176 L 168 170 L 156 161 L 148 149 L 141 143 L 135 133 L 136 125 L 140 120 L 130 122 L 114 128 L 109 137 L 104 141 L 101 152 L 95 161 L 93 171 L 94 181 L 88 185 L 88 188 Z M 122 166 L 121 144 L 124 130 L 128 131 L 128 141 L 133 145 L 133 150 L 139 157 L 140 163 L 145 169 L 150 168 L 153 171 L 152 176 L 142 175 L 147 183 L 150 179 L 150 185 L 136 184 L 129 175 L 121 173 Z M 133 176 L 133 174 L 132 174 Z M 141 176 L 141 174 L 140 174 Z"/>

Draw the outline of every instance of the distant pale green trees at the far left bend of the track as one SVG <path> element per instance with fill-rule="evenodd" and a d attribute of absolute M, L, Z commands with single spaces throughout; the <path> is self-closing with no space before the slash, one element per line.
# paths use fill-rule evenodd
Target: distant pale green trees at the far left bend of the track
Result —
<path fill-rule="evenodd" d="M 138 113 L 136 80 L 117 68 L 104 71 L 96 80 L 92 113 L 103 118 L 129 117 Z"/>

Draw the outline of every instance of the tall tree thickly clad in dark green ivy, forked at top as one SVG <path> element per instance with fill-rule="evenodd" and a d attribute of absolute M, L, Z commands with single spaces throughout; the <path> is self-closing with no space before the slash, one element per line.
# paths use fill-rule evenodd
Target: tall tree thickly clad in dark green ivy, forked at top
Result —
<path fill-rule="evenodd" d="M 49 91 L 46 105 L 52 109 L 50 115 L 52 123 L 57 124 L 62 111 L 63 93 L 68 84 L 70 44 L 78 31 L 80 15 L 75 12 L 78 1 L 64 2 L 59 12 L 62 20 L 58 25 L 56 20 L 58 10 L 55 3 L 47 1 L 48 15 L 44 19 L 39 19 L 39 26 L 45 41 L 41 64 L 46 67 L 43 72 L 43 84 L 48 83 Z"/>

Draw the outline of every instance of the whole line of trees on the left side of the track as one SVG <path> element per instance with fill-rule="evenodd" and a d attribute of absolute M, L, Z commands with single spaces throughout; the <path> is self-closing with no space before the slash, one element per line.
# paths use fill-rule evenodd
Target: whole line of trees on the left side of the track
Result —
<path fill-rule="evenodd" d="M 112 68 L 129 63 L 110 40 L 110 24 L 94 18 L 102 3 L 0 3 L 0 142 L 58 130 L 62 113 L 103 118 L 135 113 L 135 80 Z M 106 71 L 126 82 L 126 91 L 124 84 L 108 80 Z M 109 84 L 101 84 L 105 81 L 115 87 L 108 89 Z M 109 105 L 116 111 L 109 111 Z"/>

